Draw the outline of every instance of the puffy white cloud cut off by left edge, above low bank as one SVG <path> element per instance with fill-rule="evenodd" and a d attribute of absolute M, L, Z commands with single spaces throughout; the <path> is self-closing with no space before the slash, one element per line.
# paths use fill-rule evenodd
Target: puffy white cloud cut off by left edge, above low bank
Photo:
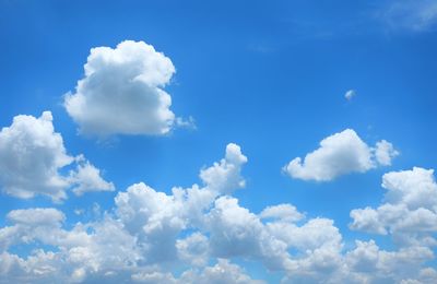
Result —
<path fill-rule="evenodd" d="M 67 199 L 72 186 L 76 192 L 113 190 L 99 170 L 83 156 L 71 177 L 60 174 L 75 159 L 67 154 L 60 133 L 55 132 L 50 111 L 39 118 L 20 115 L 0 131 L 0 187 L 7 194 L 29 199 L 38 194 L 54 201 Z"/>

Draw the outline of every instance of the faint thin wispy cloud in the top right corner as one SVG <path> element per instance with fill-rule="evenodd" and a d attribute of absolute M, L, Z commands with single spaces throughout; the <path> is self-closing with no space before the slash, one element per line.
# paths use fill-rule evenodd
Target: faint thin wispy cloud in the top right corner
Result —
<path fill-rule="evenodd" d="M 437 23 L 437 2 L 435 0 L 391 1 L 379 17 L 392 29 L 424 32 Z"/>

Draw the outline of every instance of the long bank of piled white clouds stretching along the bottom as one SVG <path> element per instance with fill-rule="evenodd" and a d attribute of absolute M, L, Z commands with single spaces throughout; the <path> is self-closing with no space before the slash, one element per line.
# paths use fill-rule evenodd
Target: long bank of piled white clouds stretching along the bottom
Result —
<path fill-rule="evenodd" d="M 375 240 L 356 240 L 346 250 L 330 218 L 307 217 L 288 203 L 268 206 L 258 214 L 241 206 L 231 193 L 245 185 L 240 173 L 246 162 L 240 147 L 228 144 L 223 159 L 201 169 L 202 185 L 175 187 L 165 193 L 135 184 L 120 191 L 115 208 L 102 217 L 69 228 L 64 214 L 56 209 L 12 211 L 8 225 L 0 228 L 0 279 L 262 283 L 232 263 L 246 260 L 276 271 L 283 283 L 430 284 L 437 280 L 437 272 L 426 267 L 434 259 L 433 234 L 437 232 L 432 223 L 418 221 L 425 216 L 423 210 L 436 211 L 433 171 L 414 168 L 383 177 L 387 202 L 402 205 L 411 218 L 397 220 L 391 214 L 391 220 L 382 221 L 377 212 L 376 220 L 382 223 L 373 225 L 374 220 L 366 221 L 362 211 L 351 212 L 354 229 L 376 227 L 380 229 L 367 230 L 404 236 L 405 241 L 387 251 Z M 358 215 L 361 218 L 355 217 Z M 20 244 L 40 244 L 42 248 L 28 256 L 11 252 Z M 175 275 L 174 268 L 182 272 Z"/>

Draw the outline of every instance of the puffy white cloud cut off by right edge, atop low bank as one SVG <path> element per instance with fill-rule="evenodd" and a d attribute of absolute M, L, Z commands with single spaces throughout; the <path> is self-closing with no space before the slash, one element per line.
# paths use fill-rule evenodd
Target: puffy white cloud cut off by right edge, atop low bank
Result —
<path fill-rule="evenodd" d="M 352 229 L 387 235 L 402 245 L 437 245 L 437 184 L 434 170 L 414 167 L 412 170 L 383 175 L 386 203 L 377 209 L 351 211 Z"/>

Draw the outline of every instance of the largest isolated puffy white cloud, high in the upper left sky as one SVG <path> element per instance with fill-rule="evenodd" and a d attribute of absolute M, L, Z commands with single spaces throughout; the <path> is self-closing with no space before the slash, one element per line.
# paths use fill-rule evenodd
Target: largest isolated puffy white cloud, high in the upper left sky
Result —
<path fill-rule="evenodd" d="M 175 125 L 193 125 L 170 110 L 172 97 L 163 87 L 176 69 L 153 46 L 125 40 L 114 49 L 92 48 L 84 70 L 63 103 L 81 133 L 162 135 Z"/>

